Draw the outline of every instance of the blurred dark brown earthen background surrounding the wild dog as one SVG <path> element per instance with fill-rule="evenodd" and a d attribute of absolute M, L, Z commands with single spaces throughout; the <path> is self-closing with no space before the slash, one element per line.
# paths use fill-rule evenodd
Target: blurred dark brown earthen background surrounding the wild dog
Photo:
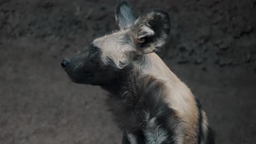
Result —
<path fill-rule="evenodd" d="M 171 15 L 159 52 L 200 98 L 217 143 L 256 141 L 256 1 L 130 0 Z M 0 143 L 121 143 L 100 87 L 60 62 L 117 29 L 117 1 L 0 0 Z"/>

